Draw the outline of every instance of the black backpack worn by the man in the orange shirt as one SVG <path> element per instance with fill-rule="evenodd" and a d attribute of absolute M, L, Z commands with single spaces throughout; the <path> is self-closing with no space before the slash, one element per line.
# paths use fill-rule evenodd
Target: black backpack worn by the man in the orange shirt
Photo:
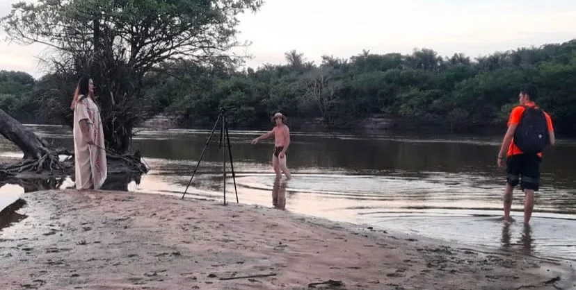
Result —
<path fill-rule="evenodd" d="M 514 132 L 514 144 L 522 150 L 522 153 L 540 153 L 550 144 L 546 116 L 544 111 L 536 105 L 524 106 L 524 108 L 520 123 Z"/>

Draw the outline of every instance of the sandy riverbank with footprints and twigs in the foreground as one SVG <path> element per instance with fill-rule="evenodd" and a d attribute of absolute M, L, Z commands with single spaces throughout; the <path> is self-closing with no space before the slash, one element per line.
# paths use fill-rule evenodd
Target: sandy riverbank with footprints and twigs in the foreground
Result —
<path fill-rule="evenodd" d="M 22 198 L 26 219 L 0 232 L 0 289 L 576 287 L 570 264 L 271 208 L 115 191 Z"/>

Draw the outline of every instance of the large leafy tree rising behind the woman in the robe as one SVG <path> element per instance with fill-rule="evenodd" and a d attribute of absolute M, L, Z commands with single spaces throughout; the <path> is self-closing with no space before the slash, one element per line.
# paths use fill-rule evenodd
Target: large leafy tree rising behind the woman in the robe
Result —
<path fill-rule="evenodd" d="M 125 152 L 134 126 L 148 117 L 143 78 L 152 70 L 166 71 L 164 62 L 212 62 L 237 65 L 230 51 L 238 46 L 237 16 L 256 11 L 262 0 L 39 0 L 19 2 L 1 19 L 10 40 L 40 43 L 56 52 L 49 59 L 56 78 L 45 87 L 44 102 L 60 104 L 53 116 L 71 120 L 74 85 L 91 76 L 110 148 Z M 45 79 L 48 81 L 48 79 Z"/>

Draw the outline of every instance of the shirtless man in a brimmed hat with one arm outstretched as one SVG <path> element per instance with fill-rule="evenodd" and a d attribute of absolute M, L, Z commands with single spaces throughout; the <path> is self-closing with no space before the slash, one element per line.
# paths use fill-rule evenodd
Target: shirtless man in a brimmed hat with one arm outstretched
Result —
<path fill-rule="evenodd" d="M 290 130 L 286 126 L 286 117 L 278 112 L 272 117 L 276 126 L 272 128 L 268 133 L 262 134 L 262 136 L 257 137 L 252 140 L 252 144 L 258 143 L 262 139 L 274 136 L 274 153 L 272 154 L 272 166 L 274 167 L 274 172 L 276 173 L 276 178 L 282 176 L 282 172 L 286 175 L 286 178 L 290 179 L 290 172 L 286 167 L 286 151 L 290 145 Z"/>

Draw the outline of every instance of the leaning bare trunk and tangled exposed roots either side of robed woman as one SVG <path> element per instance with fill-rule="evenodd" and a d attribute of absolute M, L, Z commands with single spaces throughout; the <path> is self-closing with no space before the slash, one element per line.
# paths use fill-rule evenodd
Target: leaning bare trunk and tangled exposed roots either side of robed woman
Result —
<path fill-rule="evenodd" d="M 74 153 L 65 148 L 50 148 L 45 139 L 36 135 L 1 109 L 0 135 L 16 144 L 24 153 L 22 162 L 0 164 L 0 180 L 16 178 L 24 181 L 33 180 L 35 183 L 38 182 L 37 180 L 49 180 L 74 174 Z M 61 155 L 65 156 L 64 160 L 61 160 Z M 149 170 L 141 162 L 141 155 L 138 151 L 131 155 L 119 155 L 106 150 L 106 161 L 109 176 L 114 174 L 140 176 Z M 40 188 L 42 187 L 40 186 Z"/>

